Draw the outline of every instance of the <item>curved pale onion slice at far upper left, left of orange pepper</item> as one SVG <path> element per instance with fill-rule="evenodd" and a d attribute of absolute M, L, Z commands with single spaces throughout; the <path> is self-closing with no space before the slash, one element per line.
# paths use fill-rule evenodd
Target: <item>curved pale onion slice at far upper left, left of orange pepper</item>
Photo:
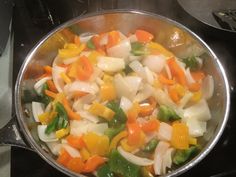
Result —
<path fill-rule="evenodd" d="M 52 68 L 52 79 L 53 82 L 55 84 L 55 87 L 57 88 L 58 92 L 62 92 L 63 88 L 64 88 L 64 81 L 61 78 L 60 74 L 65 72 L 66 69 L 63 67 L 59 67 L 59 66 L 54 66 Z"/>

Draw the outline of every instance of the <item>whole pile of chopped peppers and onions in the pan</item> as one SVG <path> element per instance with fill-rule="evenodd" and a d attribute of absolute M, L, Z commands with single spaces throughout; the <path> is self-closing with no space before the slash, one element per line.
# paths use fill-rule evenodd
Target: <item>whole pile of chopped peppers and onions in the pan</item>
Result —
<path fill-rule="evenodd" d="M 39 139 L 57 162 L 98 177 L 163 175 L 200 150 L 213 77 L 136 30 L 73 34 L 34 85 Z"/>

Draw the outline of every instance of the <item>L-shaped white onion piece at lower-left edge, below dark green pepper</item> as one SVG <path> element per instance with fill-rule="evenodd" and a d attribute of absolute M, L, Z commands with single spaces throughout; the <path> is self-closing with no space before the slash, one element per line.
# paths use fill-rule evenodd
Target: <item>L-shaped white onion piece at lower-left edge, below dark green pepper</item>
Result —
<path fill-rule="evenodd" d="M 45 130 L 47 128 L 47 125 L 38 125 L 38 136 L 39 139 L 43 142 L 54 142 L 54 141 L 58 141 L 58 139 L 56 138 L 55 133 L 50 133 L 49 135 L 47 135 L 45 133 Z"/>

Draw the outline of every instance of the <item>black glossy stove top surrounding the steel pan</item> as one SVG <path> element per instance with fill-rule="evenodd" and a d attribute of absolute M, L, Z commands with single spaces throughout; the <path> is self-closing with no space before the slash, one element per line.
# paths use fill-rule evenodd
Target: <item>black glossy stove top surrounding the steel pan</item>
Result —
<path fill-rule="evenodd" d="M 14 83 L 29 50 L 50 30 L 73 17 L 106 9 L 139 9 L 176 20 L 197 33 L 218 55 L 229 76 L 232 89 L 236 84 L 235 36 L 201 24 L 189 16 L 176 0 L 17 0 L 13 15 Z M 207 157 L 181 177 L 236 176 L 236 119 L 232 92 L 231 111 L 225 131 Z M 64 177 L 36 153 L 12 147 L 11 177 Z"/>

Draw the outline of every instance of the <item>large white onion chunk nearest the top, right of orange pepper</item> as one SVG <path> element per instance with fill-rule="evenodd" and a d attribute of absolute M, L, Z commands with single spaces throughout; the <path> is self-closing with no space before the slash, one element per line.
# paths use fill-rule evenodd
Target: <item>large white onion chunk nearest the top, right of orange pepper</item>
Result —
<path fill-rule="evenodd" d="M 119 42 L 119 44 L 107 49 L 107 54 L 110 57 L 127 58 L 130 54 L 130 51 L 130 41 L 128 39 L 125 39 Z"/>

